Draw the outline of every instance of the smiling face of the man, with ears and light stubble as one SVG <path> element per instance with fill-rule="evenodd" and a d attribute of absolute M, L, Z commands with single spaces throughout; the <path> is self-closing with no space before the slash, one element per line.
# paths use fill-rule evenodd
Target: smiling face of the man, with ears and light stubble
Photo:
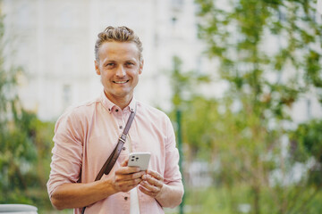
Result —
<path fill-rule="evenodd" d="M 139 49 L 133 42 L 106 42 L 99 47 L 95 69 L 112 102 L 131 101 L 143 69 L 139 56 Z"/>

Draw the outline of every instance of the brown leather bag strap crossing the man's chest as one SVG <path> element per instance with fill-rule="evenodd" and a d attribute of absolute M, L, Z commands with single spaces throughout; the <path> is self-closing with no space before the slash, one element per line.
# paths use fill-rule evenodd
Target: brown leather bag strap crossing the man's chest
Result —
<path fill-rule="evenodd" d="M 130 117 L 126 122 L 125 128 L 123 130 L 122 135 L 119 137 L 118 142 L 114 148 L 114 151 L 110 154 L 106 162 L 104 163 L 102 169 L 99 170 L 97 177 L 95 178 L 95 181 L 99 180 L 101 177 L 103 177 L 103 174 L 108 175 L 108 173 L 112 170 L 114 167 L 114 164 L 117 160 L 117 158 L 120 156 L 120 153 L 123 148 L 123 144 L 126 141 L 126 136 L 129 133 L 129 130 L 131 128 L 131 122 L 133 121 L 135 116 L 135 111 L 131 111 Z M 84 214 L 86 207 L 83 207 L 81 210 L 81 214 Z"/>

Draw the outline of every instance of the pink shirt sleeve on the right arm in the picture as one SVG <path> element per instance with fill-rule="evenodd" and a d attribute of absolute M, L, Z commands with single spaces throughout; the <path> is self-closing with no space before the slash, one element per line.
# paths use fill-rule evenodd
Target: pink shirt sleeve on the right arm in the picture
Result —
<path fill-rule="evenodd" d="M 182 175 L 179 169 L 179 152 L 175 147 L 174 128 L 170 119 L 167 119 L 167 136 L 165 142 L 165 184 L 182 185 Z"/>

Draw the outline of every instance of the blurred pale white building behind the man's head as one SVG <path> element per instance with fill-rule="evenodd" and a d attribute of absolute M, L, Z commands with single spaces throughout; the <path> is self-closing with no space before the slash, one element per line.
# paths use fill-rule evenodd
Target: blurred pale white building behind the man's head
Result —
<path fill-rule="evenodd" d="M 97 33 L 106 26 L 134 29 L 145 60 L 136 97 L 170 108 L 166 73 L 174 55 L 182 70 L 200 70 L 193 0 L 4 0 L 8 60 L 25 70 L 20 96 L 41 119 L 56 119 L 64 109 L 102 90 L 94 70 Z"/>

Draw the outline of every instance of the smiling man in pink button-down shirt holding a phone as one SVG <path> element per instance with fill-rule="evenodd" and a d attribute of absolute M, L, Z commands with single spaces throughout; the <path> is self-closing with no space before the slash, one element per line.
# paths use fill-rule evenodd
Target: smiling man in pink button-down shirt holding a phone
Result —
<path fill-rule="evenodd" d="M 69 109 L 55 125 L 55 146 L 47 183 L 58 210 L 80 213 L 164 213 L 182 202 L 174 128 L 165 113 L 133 97 L 143 69 L 142 44 L 126 27 L 97 35 L 95 69 L 104 93 Z M 131 111 L 136 111 L 114 168 L 95 181 L 114 150 Z M 130 152 L 150 152 L 147 171 L 127 167 Z"/>

